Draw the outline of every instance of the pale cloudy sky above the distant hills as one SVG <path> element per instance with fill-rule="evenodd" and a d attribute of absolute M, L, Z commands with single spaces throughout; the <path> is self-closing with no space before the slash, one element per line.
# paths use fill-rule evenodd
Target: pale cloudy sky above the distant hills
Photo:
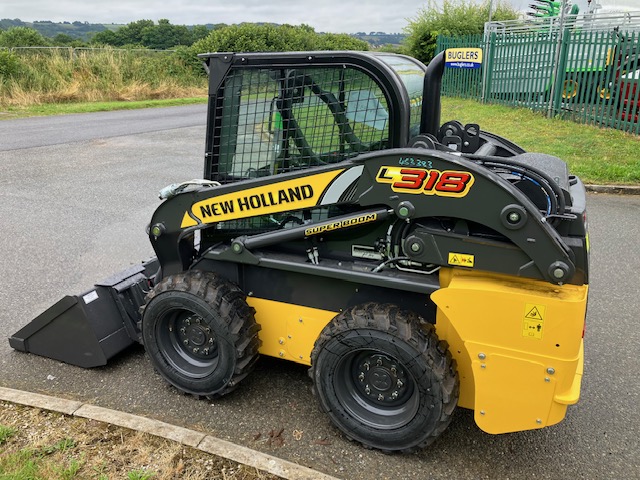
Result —
<path fill-rule="evenodd" d="M 498 0 L 496 0 L 498 1 Z M 531 0 L 507 0 L 527 10 Z M 587 0 L 574 0 L 582 8 Z M 640 10 L 640 0 L 593 0 L 607 10 Z M 426 0 L 0 0 L 0 18 L 126 24 L 168 19 L 174 25 L 273 22 L 318 32 L 401 33 Z"/>

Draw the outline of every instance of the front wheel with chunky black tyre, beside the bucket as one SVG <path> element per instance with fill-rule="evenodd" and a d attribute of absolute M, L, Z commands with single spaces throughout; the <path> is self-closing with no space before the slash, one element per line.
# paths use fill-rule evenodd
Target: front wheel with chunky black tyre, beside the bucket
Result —
<path fill-rule="evenodd" d="M 207 398 L 231 392 L 248 375 L 258 357 L 259 330 L 237 286 L 197 270 L 156 285 L 142 318 L 144 346 L 160 375 Z"/>

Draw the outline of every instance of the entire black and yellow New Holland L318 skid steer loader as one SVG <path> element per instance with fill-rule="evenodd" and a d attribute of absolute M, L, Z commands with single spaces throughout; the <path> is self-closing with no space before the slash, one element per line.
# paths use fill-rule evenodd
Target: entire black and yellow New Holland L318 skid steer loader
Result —
<path fill-rule="evenodd" d="M 580 395 L 589 257 L 565 163 L 440 125 L 443 55 L 202 60 L 204 175 L 161 191 L 157 256 L 11 346 L 96 367 L 140 342 L 208 398 L 259 354 L 297 362 L 347 437 L 389 452 L 430 444 L 456 406 L 489 433 L 561 421 Z"/>

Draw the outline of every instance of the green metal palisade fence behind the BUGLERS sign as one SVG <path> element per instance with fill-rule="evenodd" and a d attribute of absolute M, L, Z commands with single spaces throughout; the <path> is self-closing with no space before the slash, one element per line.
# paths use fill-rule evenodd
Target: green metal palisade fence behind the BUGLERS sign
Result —
<path fill-rule="evenodd" d="M 444 95 L 544 111 L 640 134 L 640 35 L 617 31 L 492 32 L 438 37 L 437 52 L 480 47 L 480 69 L 447 69 Z"/>

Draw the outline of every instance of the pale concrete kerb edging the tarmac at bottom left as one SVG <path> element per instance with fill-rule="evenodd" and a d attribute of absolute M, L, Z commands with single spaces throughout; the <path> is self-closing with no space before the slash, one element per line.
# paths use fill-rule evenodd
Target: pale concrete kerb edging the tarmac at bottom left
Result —
<path fill-rule="evenodd" d="M 86 403 L 65 400 L 11 388 L 0 387 L 0 400 L 51 410 L 65 415 L 88 418 L 120 427 L 149 433 L 186 445 L 202 452 L 217 455 L 237 463 L 278 475 L 287 480 L 338 480 L 308 467 L 282 460 L 272 455 L 206 435 L 201 432 L 177 427 L 159 420 L 153 420 L 130 413 L 97 407 Z"/>

